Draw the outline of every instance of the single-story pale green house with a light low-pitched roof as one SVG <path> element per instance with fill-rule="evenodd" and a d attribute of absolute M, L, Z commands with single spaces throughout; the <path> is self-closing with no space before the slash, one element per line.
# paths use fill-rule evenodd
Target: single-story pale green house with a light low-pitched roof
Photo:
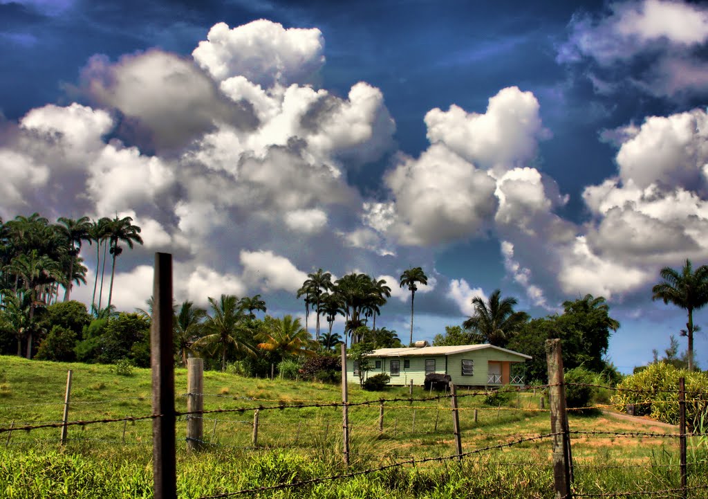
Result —
<path fill-rule="evenodd" d="M 458 386 L 523 385 L 523 363 L 529 355 L 491 344 L 463 344 L 455 347 L 379 348 L 367 355 L 370 371 L 391 376 L 390 385 L 422 386 L 426 374 L 449 374 Z M 358 366 L 347 362 L 349 383 L 359 380 Z"/>

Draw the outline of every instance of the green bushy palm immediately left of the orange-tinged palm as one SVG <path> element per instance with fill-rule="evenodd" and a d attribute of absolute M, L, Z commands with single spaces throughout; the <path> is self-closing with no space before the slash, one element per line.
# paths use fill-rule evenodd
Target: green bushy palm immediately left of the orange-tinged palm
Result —
<path fill-rule="evenodd" d="M 222 295 L 219 301 L 209 298 L 212 315 L 207 317 L 203 325 L 204 336 L 195 341 L 193 347 L 212 345 L 221 349 L 222 371 L 226 371 L 226 354 L 229 345 L 237 351 L 253 352 L 253 347 L 244 338 L 248 329 L 244 325 L 246 314 L 239 305 L 239 300 L 233 295 Z"/>

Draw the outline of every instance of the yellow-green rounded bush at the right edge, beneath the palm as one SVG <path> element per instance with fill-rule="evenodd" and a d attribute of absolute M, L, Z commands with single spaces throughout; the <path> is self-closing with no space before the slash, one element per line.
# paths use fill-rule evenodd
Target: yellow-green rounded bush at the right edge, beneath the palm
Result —
<path fill-rule="evenodd" d="M 695 427 L 708 411 L 708 374 L 685 369 L 676 369 L 666 362 L 658 362 L 643 371 L 627 376 L 617 385 L 612 403 L 624 411 L 627 404 L 634 404 L 637 415 L 649 415 L 653 419 L 678 424 L 678 379 L 685 378 L 686 421 Z"/>

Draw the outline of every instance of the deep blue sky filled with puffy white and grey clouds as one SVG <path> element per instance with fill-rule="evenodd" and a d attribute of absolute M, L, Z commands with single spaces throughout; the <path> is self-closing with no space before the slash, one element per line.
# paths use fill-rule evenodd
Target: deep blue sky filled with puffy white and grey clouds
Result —
<path fill-rule="evenodd" d="M 685 328 L 651 286 L 708 264 L 705 4 L 0 0 L 0 44 L 0 216 L 131 216 L 119 310 L 170 252 L 178 301 L 276 316 L 319 268 L 386 279 L 402 339 L 410 267 L 414 340 L 497 288 L 603 296 L 624 372 Z"/>

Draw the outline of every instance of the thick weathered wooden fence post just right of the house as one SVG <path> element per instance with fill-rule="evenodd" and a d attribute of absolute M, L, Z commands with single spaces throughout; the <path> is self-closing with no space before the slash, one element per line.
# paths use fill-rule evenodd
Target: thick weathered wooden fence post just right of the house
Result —
<path fill-rule="evenodd" d="M 546 340 L 548 364 L 549 406 L 553 435 L 553 476 L 556 499 L 571 499 L 573 480 L 566 389 L 563 379 L 561 340 Z"/>

